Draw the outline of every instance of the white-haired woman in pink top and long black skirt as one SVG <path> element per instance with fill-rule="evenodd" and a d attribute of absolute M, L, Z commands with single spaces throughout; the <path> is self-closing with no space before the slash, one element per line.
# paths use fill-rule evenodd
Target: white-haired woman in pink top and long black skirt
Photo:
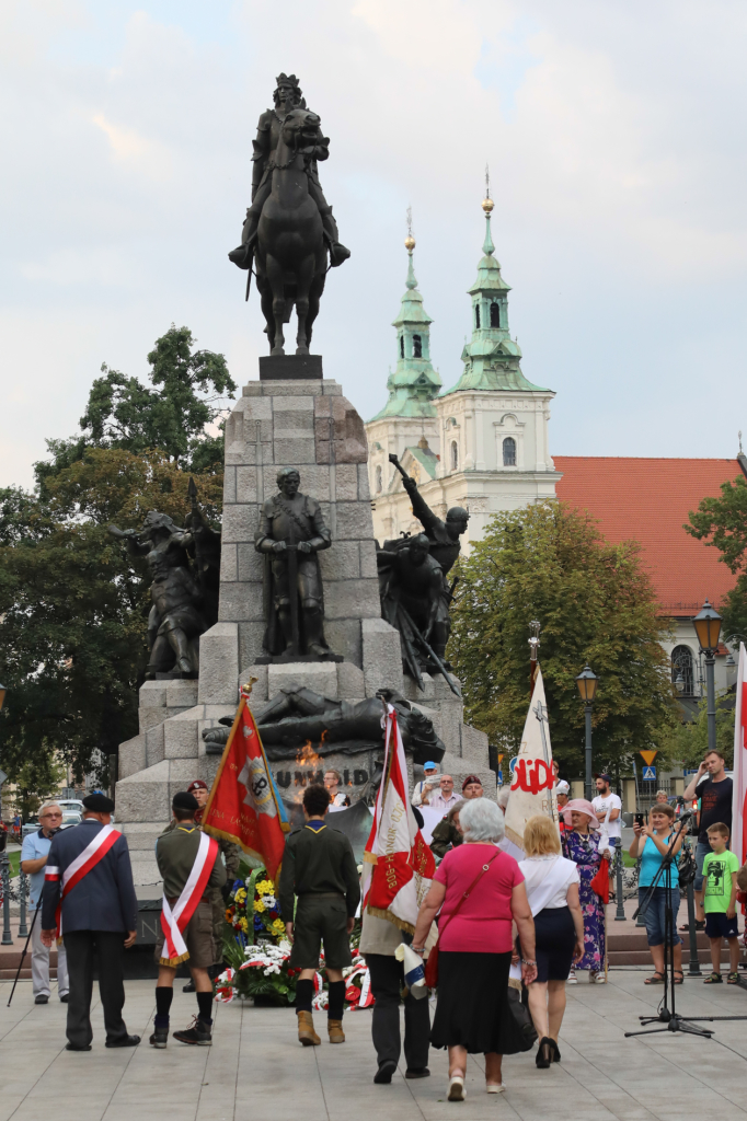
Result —
<path fill-rule="evenodd" d="M 511 921 L 518 928 L 523 978 L 537 973 L 534 923 L 517 862 L 497 844 L 504 815 L 474 798 L 460 814 L 464 841 L 441 861 L 423 901 L 413 948 L 422 953 L 439 909 L 439 1003 L 431 1044 L 449 1048 L 449 1101 L 464 1100 L 468 1054 L 485 1055 L 486 1090 L 499 1094 L 501 1038 L 511 964 Z"/>

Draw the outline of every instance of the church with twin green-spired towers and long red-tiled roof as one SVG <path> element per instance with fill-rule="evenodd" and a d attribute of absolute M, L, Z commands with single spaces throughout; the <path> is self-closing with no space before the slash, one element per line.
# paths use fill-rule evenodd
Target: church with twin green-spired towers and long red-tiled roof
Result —
<path fill-rule="evenodd" d="M 740 460 L 677 460 L 550 455 L 547 424 L 555 396 L 522 372 L 522 351 L 508 326 L 509 286 L 501 276 L 490 232 L 492 201 L 482 202 L 486 235 L 470 296 L 471 340 L 458 381 L 443 389 L 431 362 L 432 319 L 423 307 L 408 237 L 406 293 L 394 321 L 397 365 L 387 381 L 388 400 L 366 425 L 374 527 L 379 540 L 417 532 L 398 457 L 431 508 L 445 517 L 452 506 L 470 512 L 462 547 L 479 540 L 490 518 L 546 499 L 560 499 L 599 522 L 607 540 L 635 539 L 651 573 L 663 615 L 672 621 L 665 643 L 672 682 L 685 712 L 704 696 L 704 666 L 692 618 L 703 601 L 714 606 L 735 577 L 720 554 L 690 537 L 684 525 L 703 498 L 740 474 Z M 747 460 L 745 473 L 747 473 Z M 736 679 L 725 636 L 716 657 L 716 686 Z"/>

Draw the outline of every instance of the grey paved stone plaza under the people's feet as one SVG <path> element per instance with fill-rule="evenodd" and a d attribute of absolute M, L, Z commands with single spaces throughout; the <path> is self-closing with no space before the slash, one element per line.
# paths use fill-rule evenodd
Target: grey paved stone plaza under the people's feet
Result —
<path fill-rule="evenodd" d="M 647 972 L 647 971 L 646 971 Z M 610 984 L 569 990 L 561 1036 L 563 1062 L 537 1071 L 534 1053 L 508 1058 L 507 1092 L 488 1097 L 481 1062 L 471 1062 L 463 1104 L 444 1101 L 446 1059 L 431 1053 L 431 1078 L 375 1086 L 370 1012 L 345 1016 L 348 1041 L 302 1048 L 292 1010 L 216 1006 L 212 1048 L 169 1041 L 165 1051 L 147 1041 L 133 1050 L 103 1046 L 101 1006 L 94 990 L 93 1050 L 65 1051 L 65 1007 L 31 1002 L 22 982 L 8 1009 L 0 984 L 0 1121 L 522 1121 L 619 1118 L 680 1121 L 686 1117 L 747 1118 L 747 1021 L 723 1022 L 714 1039 L 649 1036 L 625 1039 L 637 1017 L 654 1009 L 661 989 L 646 989 L 646 972 L 616 970 Z M 677 990 L 680 1008 L 693 1016 L 747 1015 L 747 991 L 703 988 L 700 980 Z M 193 997 L 177 989 L 173 1026 L 186 1025 Z M 154 1013 L 153 982 L 127 984 L 126 1019 L 146 1039 Z M 317 1026 L 323 1019 L 317 1016 Z"/>

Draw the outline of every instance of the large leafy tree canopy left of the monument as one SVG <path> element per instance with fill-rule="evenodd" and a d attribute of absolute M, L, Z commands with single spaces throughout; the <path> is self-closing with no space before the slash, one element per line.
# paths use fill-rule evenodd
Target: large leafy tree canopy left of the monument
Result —
<path fill-rule="evenodd" d="M 138 731 L 150 577 L 109 522 L 139 529 L 155 509 L 184 524 L 190 474 L 205 516 L 220 522 L 222 436 L 201 439 L 215 413 L 196 390 L 222 392 L 233 382 L 222 355 L 191 346 L 185 327 L 158 340 L 149 355 L 157 391 L 120 374 L 99 379 L 82 420 L 87 430 L 49 442 L 52 462 L 37 464 L 35 491 L 0 490 L 0 680 L 8 688 L 0 765 L 28 789 L 48 785 L 55 758 L 80 780 L 99 752 L 113 754 Z M 103 383 L 113 387 L 109 411 Z M 210 447 L 218 454 L 205 454 Z"/>

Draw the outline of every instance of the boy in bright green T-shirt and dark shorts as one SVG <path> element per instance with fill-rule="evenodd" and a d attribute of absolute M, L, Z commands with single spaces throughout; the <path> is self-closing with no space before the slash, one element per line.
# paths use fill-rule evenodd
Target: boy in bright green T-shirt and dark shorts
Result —
<path fill-rule="evenodd" d="M 708 828 L 711 851 L 703 861 L 703 909 L 706 934 L 711 943 L 713 972 L 703 984 L 721 984 L 721 939 L 729 943 L 729 975 L 727 984 L 739 984 L 739 942 L 737 929 L 737 872 L 739 860 L 729 852 L 729 830 L 721 822 Z"/>

